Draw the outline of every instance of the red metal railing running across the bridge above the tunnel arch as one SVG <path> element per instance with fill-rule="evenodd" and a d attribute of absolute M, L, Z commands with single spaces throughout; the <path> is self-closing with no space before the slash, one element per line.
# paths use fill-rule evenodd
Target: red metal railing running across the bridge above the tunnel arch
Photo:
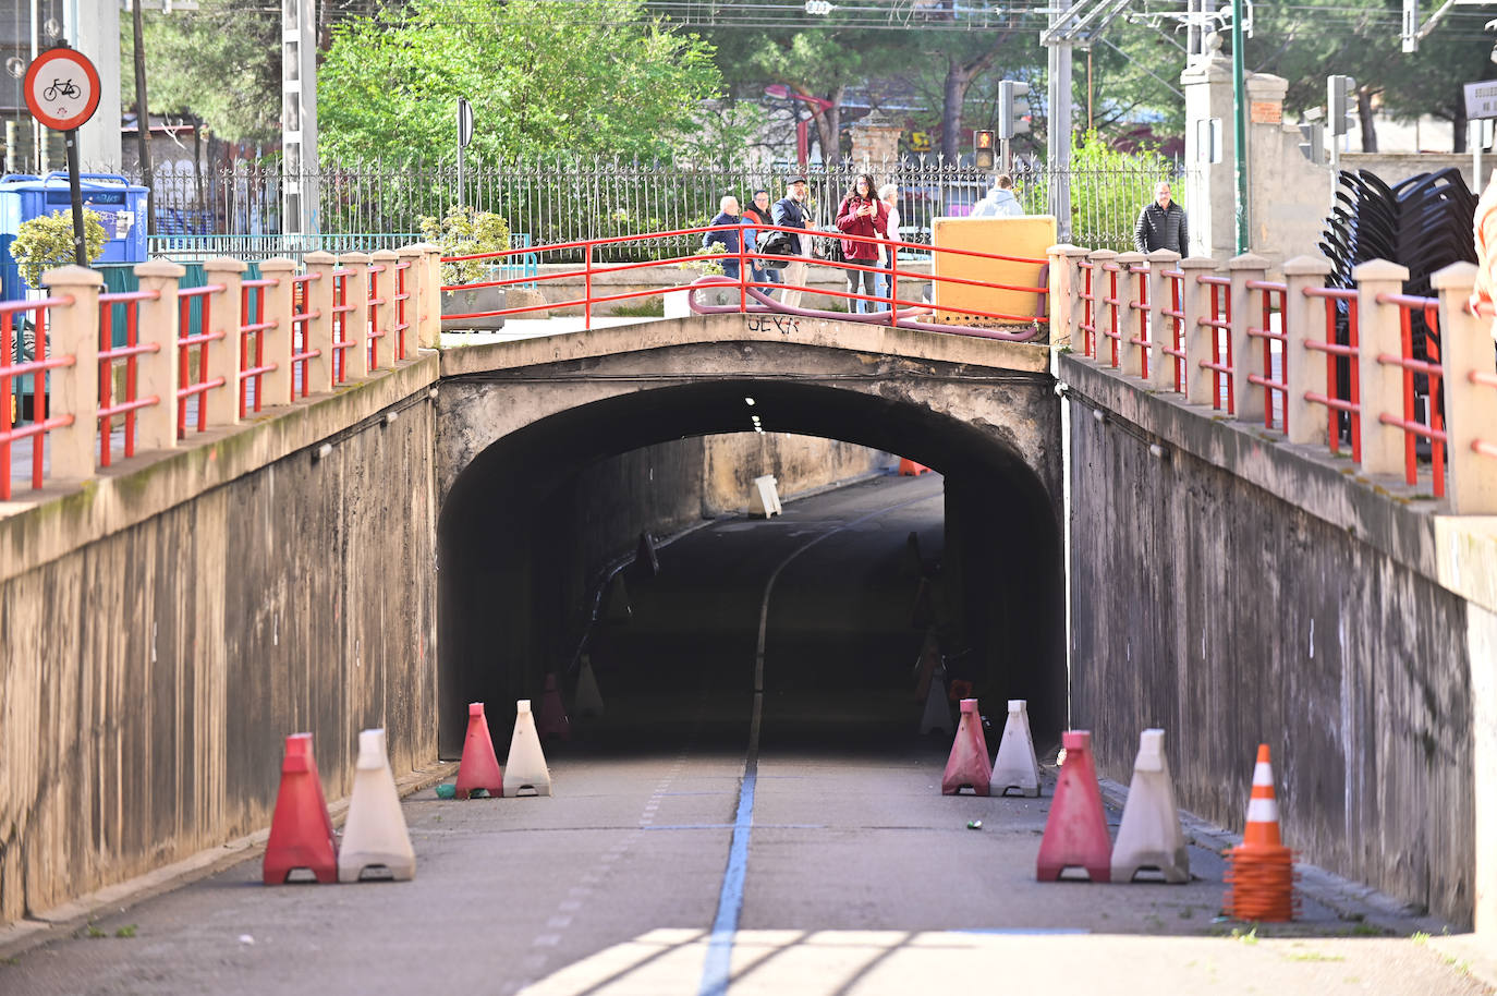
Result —
<path fill-rule="evenodd" d="M 512 255 L 516 255 L 516 253 L 540 253 L 540 255 L 543 255 L 543 253 L 549 253 L 549 252 L 563 252 L 563 250 L 582 250 L 582 255 L 584 255 L 584 264 L 582 264 L 581 270 L 570 270 L 570 271 L 551 273 L 551 274 L 530 274 L 530 276 L 510 277 L 510 279 L 503 279 L 503 280 L 482 280 L 482 282 L 464 283 L 464 285 L 448 285 L 448 286 L 442 288 L 443 291 L 475 289 L 475 288 L 503 288 L 503 286 L 510 286 L 510 285 L 516 285 L 516 283 L 531 283 L 531 282 L 545 282 L 545 280 L 564 280 L 564 279 L 581 276 L 582 280 L 584 280 L 584 297 L 581 297 L 581 298 L 573 298 L 573 300 L 569 300 L 569 301 L 548 301 L 548 303 L 543 303 L 543 304 L 530 304 L 530 306 L 521 306 L 521 307 L 496 309 L 496 310 L 491 310 L 491 312 L 473 312 L 473 313 L 467 313 L 467 315 L 448 315 L 446 318 L 448 319 L 454 319 L 454 321 L 461 321 L 461 319 L 475 319 L 475 318 L 493 318 L 493 316 L 500 316 L 500 315 L 522 315 L 525 312 L 533 312 L 533 310 L 564 309 L 564 307 L 578 307 L 578 306 L 581 306 L 584 309 L 584 327 L 585 328 L 591 328 L 591 313 L 593 313 L 593 306 L 594 304 L 605 304 L 605 303 L 611 303 L 611 301 L 626 301 L 626 300 L 644 298 L 644 297 L 659 297 L 659 295 L 662 295 L 665 292 L 680 291 L 681 289 L 678 286 L 668 286 L 668 288 L 648 288 L 648 289 L 644 289 L 644 291 L 626 291 L 626 292 L 620 292 L 620 294 L 594 295 L 593 294 L 593 276 L 594 276 L 594 273 L 597 273 L 593 268 L 593 250 L 594 250 L 594 247 L 609 246 L 609 244 L 615 244 L 615 243 L 641 243 L 641 241 L 645 241 L 645 240 L 672 238 L 672 237 L 680 237 L 680 235 L 702 235 L 702 234 L 707 234 L 707 232 L 722 232 L 722 231 L 737 231 L 740 234 L 740 250 L 737 253 L 728 253 L 726 259 L 734 259 L 737 256 L 737 259 L 740 262 L 740 273 L 738 273 L 738 277 L 737 277 L 737 286 L 740 288 L 740 307 L 743 307 L 743 309 L 754 307 L 754 306 L 757 306 L 757 301 L 754 301 L 751 298 L 751 295 L 748 294 L 750 291 L 757 291 L 760 294 L 769 292 L 769 291 L 784 291 L 786 286 L 789 286 L 789 285 L 753 280 L 751 279 L 751 270 L 747 268 L 747 267 L 744 267 L 744 265 L 741 265 L 741 264 L 746 264 L 746 262 L 754 262 L 754 264 L 757 264 L 757 262 L 763 262 L 763 261 L 784 262 L 784 259 L 786 259 L 784 256 L 774 256 L 774 255 L 765 255 L 765 253 L 747 250 L 743 246 L 743 234 L 747 229 L 750 229 L 750 228 L 756 229 L 759 232 L 781 231 L 781 232 L 789 232 L 792 235 L 822 237 L 820 232 L 808 232 L 805 229 L 787 228 L 787 226 L 775 226 L 775 225 L 717 225 L 717 226 L 701 226 L 701 228 L 678 229 L 678 231 L 669 231 L 669 232 L 645 232 L 645 234 L 641 234 L 641 235 L 618 235 L 618 237 L 609 237 L 609 238 L 582 240 L 582 241 L 575 241 L 575 243 L 557 243 L 557 244 L 552 244 L 552 246 L 530 246 L 530 247 L 525 247 L 525 249 L 507 249 L 507 250 L 490 252 L 490 253 L 472 253 L 472 255 L 466 255 L 466 256 L 446 256 L 446 258 L 443 258 L 443 262 L 464 262 L 464 261 L 470 261 L 470 259 L 501 259 L 501 258 L 512 256 Z M 909 249 L 916 249 L 916 250 L 927 252 L 927 253 L 934 253 L 934 255 L 946 253 L 946 255 L 951 255 L 951 256 L 967 256 L 967 258 L 978 258 L 978 259 L 994 259 L 994 261 L 1007 261 L 1007 262 L 1037 264 L 1037 265 L 1042 265 L 1042 267 L 1048 265 L 1048 262 L 1049 262 L 1048 259 L 1033 259 L 1033 258 L 1025 258 L 1025 256 L 1004 256 L 1004 255 L 1000 255 L 1000 253 L 984 253 L 984 252 L 964 250 L 964 249 L 943 249 L 943 247 L 939 247 L 939 246 L 936 246 L 936 247 L 933 247 L 933 246 L 921 246 L 921 244 L 915 244 L 915 243 L 901 243 L 901 241 L 892 241 L 892 240 L 886 240 L 886 238 L 873 238 L 873 237 L 864 237 L 864 235 L 837 234 L 835 238 L 841 238 L 843 241 L 871 243 L 871 244 L 882 246 L 882 247 L 886 247 L 886 249 L 892 247 L 894 250 L 909 247 Z M 648 261 L 644 261 L 644 262 L 633 262 L 633 264 L 614 264 L 614 265 L 608 267 L 608 273 L 620 273 L 620 271 L 629 271 L 629 270 L 639 270 L 639 268 L 645 268 L 645 267 L 662 267 L 662 265 L 675 265 L 675 264 L 686 264 L 686 262 L 702 262 L 702 259 L 704 259 L 702 256 L 690 255 L 690 256 L 669 256 L 669 258 L 663 258 L 663 259 L 648 259 Z M 805 264 L 814 265 L 814 267 L 832 267 L 835 270 L 847 271 L 847 273 L 850 273 L 850 271 L 861 271 L 861 273 L 873 273 L 873 274 L 888 274 L 889 280 L 891 280 L 891 294 L 889 294 L 889 297 L 870 295 L 870 294 L 855 294 L 855 292 L 850 292 L 850 291 L 834 291 L 834 289 L 828 289 L 828 288 L 814 288 L 814 289 L 810 289 L 810 292 L 811 294 L 817 294 L 817 295 L 823 295 L 823 297 L 841 298 L 844 301 L 870 301 L 870 303 L 879 304 L 882 307 L 886 307 L 888 309 L 888 319 L 886 321 L 891 325 L 898 325 L 900 322 L 907 321 L 910 318 L 910 315 L 904 309 L 931 309 L 933 307 L 928 301 L 907 301 L 907 300 L 903 300 L 903 298 L 898 297 L 900 273 L 898 273 L 898 259 L 897 259 L 897 255 L 895 255 L 895 259 L 892 261 L 892 265 L 889 265 L 889 267 L 864 265 L 864 264 L 859 264 L 859 262 L 826 262 L 826 261 L 811 259 L 811 258 L 796 258 L 795 261 L 796 262 L 805 262 Z M 906 274 L 906 277 L 909 277 L 909 274 Z M 1045 297 L 1045 295 L 1049 294 L 1049 288 L 1042 288 L 1042 286 L 1004 285 L 1004 283 L 994 283 L 994 282 L 985 282 L 985 280 L 969 280 L 969 279 L 964 279 L 964 277 L 954 277 L 954 276 L 945 276 L 945 274 L 928 274 L 928 276 L 922 274 L 922 276 L 919 276 L 919 280 L 922 283 L 924 282 L 931 282 L 931 283 L 952 285 L 952 286 L 978 286 L 978 288 L 988 288 L 988 289 L 998 289 L 998 291 L 1018 291 L 1018 292 L 1036 294 L 1036 295 L 1040 295 L 1040 297 Z M 726 282 L 722 282 L 720 286 L 729 286 L 729 285 Z M 982 319 L 993 319 L 993 321 L 1003 321 L 1003 322 L 1048 324 L 1048 321 L 1049 321 L 1048 309 L 1039 309 L 1039 307 L 1036 309 L 1034 315 L 1007 315 L 1007 313 L 1001 313 L 1001 312 L 984 312 L 984 310 L 979 310 L 979 309 L 972 309 L 972 307 L 964 307 L 964 306 L 942 303 L 939 306 L 939 310 L 943 312 L 943 313 L 952 313 L 952 315 L 960 315 L 960 316 L 966 316 L 966 318 L 982 318 Z M 862 319 L 859 319 L 859 321 L 862 321 Z M 879 312 L 879 321 L 880 322 L 885 321 L 885 313 L 883 313 L 882 309 Z M 963 327 L 952 327 L 951 331 L 954 331 L 954 332 L 964 332 L 964 334 L 973 334 L 973 335 L 987 334 L 987 332 L 984 332 L 984 330 L 970 330 L 970 328 L 963 328 Z M 991 335 L 996 337 L 996 338 L 1004 338 L 1004 337 L 1007 337 L 1004 334 L 991 334 Z"/>

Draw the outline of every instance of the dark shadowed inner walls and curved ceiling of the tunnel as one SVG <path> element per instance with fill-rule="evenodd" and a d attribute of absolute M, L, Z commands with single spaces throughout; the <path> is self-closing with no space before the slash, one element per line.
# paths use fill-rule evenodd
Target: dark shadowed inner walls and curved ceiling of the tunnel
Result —
<path fill-rule="evenodd" d="M 746 397 L 756 400 L 753 409 Z M 572 508 L 554 499 L 567 482 L 591 463 L 644 446 L 751 431 L 750 412 L 766 431 L 865 445 L 945 475 L 948 569 L 960 571 L 969 643 L 996 678 L 990 684 L 1030 699 L 1036 737 L 1058 738 L 1067 695 L 1060 467 L 1030 466 L 1001 425 L 906 398 L 722 379 L 548 415 L 500 436 L 457 475 L 437 521 L 443 756 L 461 753 L 469 701 L 506 705 L 490 708 L 501 735 L 509 702 L 537 695 L 543 674 L 564 664 L 557 635 L 579 632 L 573 607 L 548 604 L 549 593 L 567 587 L 554 577 L 566 569 L 554 545 Z"/>

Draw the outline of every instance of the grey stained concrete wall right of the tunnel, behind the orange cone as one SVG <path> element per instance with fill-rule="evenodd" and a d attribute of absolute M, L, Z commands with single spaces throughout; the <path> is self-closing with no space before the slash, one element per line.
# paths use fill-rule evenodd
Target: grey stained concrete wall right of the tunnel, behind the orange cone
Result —
<path fill-rule="evenodd" d="M 1090 361 L 1060 376 L 1072 722 L 1100 770 L 1126 782 L 1139 731 L 1163 726 L 1181 806 L 1241 830 L 1268 743 L 1289 846 L 1469 924 L 1491 592 L 1449 551 L 1479 538 L 1445 535 L 1464 524 L 1413 490 Z"/>

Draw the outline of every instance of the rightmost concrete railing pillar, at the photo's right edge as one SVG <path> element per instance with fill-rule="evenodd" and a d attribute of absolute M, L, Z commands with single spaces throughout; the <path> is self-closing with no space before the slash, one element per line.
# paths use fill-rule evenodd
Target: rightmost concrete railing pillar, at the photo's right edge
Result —
<path fill-rule="evenodd" d="M 1497 349 L 1491 324 L 1472 315 L 1466 301 L 1476 286 L 1476 267 L 1445 267 L 1430 286 L 1440 295 L 1440 377 L 1445 389 L 1446 460 L 1451 479 L 1446 497 L 1458 515 L 1497 515 L 1497 454 L 1482 454 L 1476 443 L 1497 446 L 1497 386 L 1475 376 L 1493 377 Z"/>

